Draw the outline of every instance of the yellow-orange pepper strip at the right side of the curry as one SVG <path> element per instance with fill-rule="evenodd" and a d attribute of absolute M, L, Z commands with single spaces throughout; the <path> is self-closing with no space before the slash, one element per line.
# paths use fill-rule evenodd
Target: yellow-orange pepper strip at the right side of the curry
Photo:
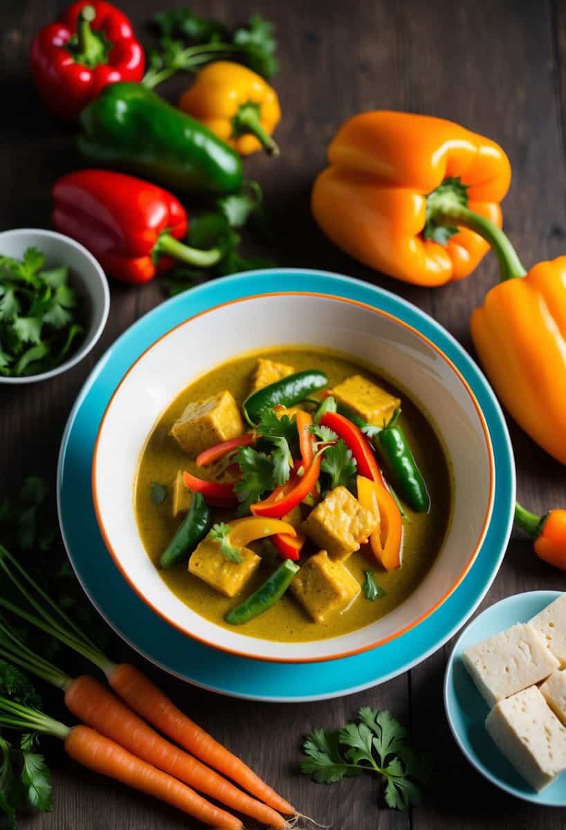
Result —
<path fill-rule="evenodd" d="M 360 505 L 379 515 L 380 525 L 369 537 L 369 544 L 378 563 L 386 570 L 401 567 L 403 551 L 403 517 L 391 493 L 380 481 L 358 476 Z"/>

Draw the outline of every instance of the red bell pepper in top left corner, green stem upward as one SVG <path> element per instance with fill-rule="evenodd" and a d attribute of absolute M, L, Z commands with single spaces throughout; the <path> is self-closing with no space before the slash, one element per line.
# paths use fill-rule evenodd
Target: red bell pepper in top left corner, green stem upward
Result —
<path fill-rule="evenodd" d="M 80 0 L 37 32 L 31 66 L 49 109 L 72 120 L 106 85 L 141 81 L 145 57 L 120 9 L 104 0 Z"/>

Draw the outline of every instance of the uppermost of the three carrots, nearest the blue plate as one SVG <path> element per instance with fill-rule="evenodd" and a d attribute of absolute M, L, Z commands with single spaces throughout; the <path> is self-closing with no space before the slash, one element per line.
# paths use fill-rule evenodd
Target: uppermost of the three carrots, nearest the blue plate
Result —
<path fill-rule="evenodd" d="M 120 663 L 107 676 L 110 686 L 123 701 L 126 701 L 130 709 L 138 712 L 145 720 L 149 720 L 169 738 L 226 775 L 227 778 L 236 781 L 256 798 L 261 798 L 261 801 L 274 810 L 285 815 L 295 815 L 295 808 L 285 801 L 285 798 L 281 798 L 281 795 L 265 784 L 241 759 L 214 740 L 187 715 L 184 715 L 135 666 Z"/>

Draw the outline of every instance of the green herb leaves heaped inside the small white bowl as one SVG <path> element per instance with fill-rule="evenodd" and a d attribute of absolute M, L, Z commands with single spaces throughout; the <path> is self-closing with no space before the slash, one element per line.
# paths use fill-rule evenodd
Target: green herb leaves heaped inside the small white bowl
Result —
<path fill-rule="evenodd" d="M 0 374 L 53 369 L 83 334 L 68 268 L 44 266 L 37 248 L 28 248 L 21 260 L 0 255 Z"/>

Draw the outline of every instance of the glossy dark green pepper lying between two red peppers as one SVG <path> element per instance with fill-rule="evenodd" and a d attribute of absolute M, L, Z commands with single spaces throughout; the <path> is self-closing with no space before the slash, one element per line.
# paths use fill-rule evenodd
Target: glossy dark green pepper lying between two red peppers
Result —
<path fill-rule="evenodd" d="M 239 155 L 209 129 L 143 84 L 105 87 L 80 116 L 81 154 L 185 193 L 234 193 Z"/>

